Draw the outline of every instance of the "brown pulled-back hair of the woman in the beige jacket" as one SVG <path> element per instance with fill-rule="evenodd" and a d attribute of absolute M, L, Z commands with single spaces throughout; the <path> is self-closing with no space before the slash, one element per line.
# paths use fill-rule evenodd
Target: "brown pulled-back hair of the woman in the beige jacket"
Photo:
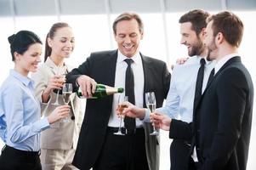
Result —
<path fill-rule="evenodd" d="M 48 31 L 48 34 L 47 34 L 46 40 L 45 40 L 44 62 L 46 61 L 46 59 L 48 58 L 48 56 L 50 56 L 50 55 L 52 54 L 52 48 L 50 48 L 50 47 L 48 46 L 48 41 L 47 41 L 48 37 L 51 38 L 51 39 L 53 39 L 54 36 L 55 36 L 56 31 L 57 31 L 58 29 L 64 28 L 64 27 L 71 27 L 71 26 L 69 26 L 69 25 L 68 25 L 67 23 L 65 23 L 65 22 L 57 22 L 57 23 L 55 23 L 55 24 L 51 27 L 50 31 Z"/>

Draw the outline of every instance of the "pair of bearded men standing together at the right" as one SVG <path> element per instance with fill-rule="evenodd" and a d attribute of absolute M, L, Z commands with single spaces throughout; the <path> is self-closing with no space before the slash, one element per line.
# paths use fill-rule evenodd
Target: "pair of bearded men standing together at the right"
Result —
<path fill-rule="evenodd" d="M 174 66 L 166 105 L 150 116 L 126 102 L 123 114 L 169 131 L 172 170 L 246 170 L 253 82 L 238 54 L 242 20 L 196 9 L 179 23 L 191 58 Z"/>

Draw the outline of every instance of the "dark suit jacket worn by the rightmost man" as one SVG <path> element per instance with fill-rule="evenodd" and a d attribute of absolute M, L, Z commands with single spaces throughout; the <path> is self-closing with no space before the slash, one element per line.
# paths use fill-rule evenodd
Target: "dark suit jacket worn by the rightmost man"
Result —
<path fill-rule="evenodd" d="M 173 120 L 170 138 L 190 139 L 203 170 L 246 170 L 253 82 L 240 57 L 229 59 L 208 84 L 193 123 Z"/>

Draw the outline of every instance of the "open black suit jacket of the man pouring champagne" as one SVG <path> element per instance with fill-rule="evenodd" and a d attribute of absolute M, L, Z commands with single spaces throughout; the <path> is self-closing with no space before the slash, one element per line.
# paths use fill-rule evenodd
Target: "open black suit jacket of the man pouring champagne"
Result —
<path fill-rule="evenodd" d="M 168 94 L 170 73 L 168 72 L 167 65 L 158 59 L 145 57 L 142 54 L 140 55 L 145 77 L 145 82 L 141 82 L 144 83 L 144 93 L 154 91 L 156 93 L 156 106 L 160 107 L 162 106 L 163 99 L 165 99 Z M 98 83 L 114 87 L 116 65 L 117 50 L 93 53 L 82 65 L 67 75 L 67 82 L 72 82 L 73 86 L 77 87 L 77 77 L 87 75 L 88 77 L 94 78 Z M 94 166 L 95 161 L 100 156 L 100 150 L 105 141 L 109 117 L 111 116 L 112 100 L 112 96 L 107 96 L 103 99 L 87 100 L 77 151 L 73 160 L 73 164 L 76 167 L 89 169 Z M 145 130 L 149 129 L 149 126 L 151 126 L 151 124 L 147 123 Z M 156 153 L 153 153 L 155 157 L 147 156 L 150 167 L 151 161 L 154 161 L 154 159 L 156 162 L 153 163 L 157 164 L 157 150 L 159 150 L 159 146 L 157 146 L 158 149 L 156 148 L 157 143 L 158 141 L 154 137 L 146 138 L 146 147 L 149 147 L 147 148 L 147 153 L 151 153 L 151 147 L 152 150 L 156 150 Z M 156 169 L 155 167 L 153 168 Z"/>

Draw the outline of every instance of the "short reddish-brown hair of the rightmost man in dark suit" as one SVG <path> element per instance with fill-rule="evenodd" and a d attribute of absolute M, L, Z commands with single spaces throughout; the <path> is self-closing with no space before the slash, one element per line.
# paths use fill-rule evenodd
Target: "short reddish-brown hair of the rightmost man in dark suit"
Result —
<path fill-rule="evenodd" d="M 213 14 L 207 21 L 213 21 L 212 29 L 214 37 L 218 32 L 221 32 L 230 45 L 236 48 L 240 46 L 242 42 L 243 24 L 242 20 L 236 14 L 230 11 L 223 11 L 219 14 Z"/>

